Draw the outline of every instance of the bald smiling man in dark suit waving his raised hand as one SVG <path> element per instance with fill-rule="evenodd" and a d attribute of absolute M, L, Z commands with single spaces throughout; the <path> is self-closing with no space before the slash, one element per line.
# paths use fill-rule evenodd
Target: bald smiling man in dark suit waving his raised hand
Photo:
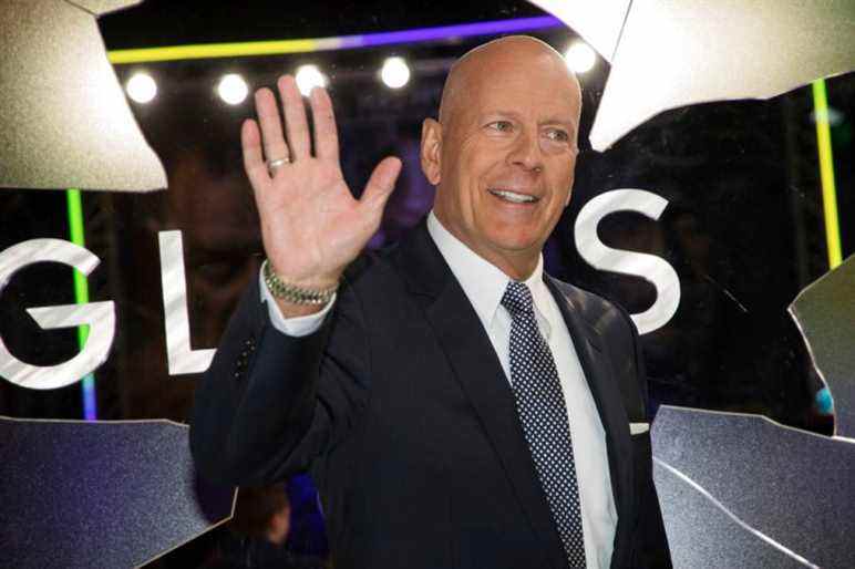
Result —
<path fill-rule="evenodd" d="M 543 271 L 578 153 L 563 58 L 511 37 L 453 66 L 422 130 L 433 210 L 380 254 L 400 161 L 354 199 L 327 93 L 310 133 L 278 90 L 285 131 L 261 89 L 241 132 L 267 261 L 196 391 L 202 474 L 309 470 L 339 569 L 670 567 L 636 329 Z"/>

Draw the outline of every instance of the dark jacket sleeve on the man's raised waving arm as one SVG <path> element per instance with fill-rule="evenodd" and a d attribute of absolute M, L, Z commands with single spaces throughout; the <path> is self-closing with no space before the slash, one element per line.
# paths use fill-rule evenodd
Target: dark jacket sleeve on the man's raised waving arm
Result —
<path fill-rule="evenodd" d="M 306 470 L 347 436 L 367 400 L 362 310 L 347 281 L 316 332 L 274 328 L 257 279 L 196 387 L 190 451 L 210 482 L 260 485 Z"/>

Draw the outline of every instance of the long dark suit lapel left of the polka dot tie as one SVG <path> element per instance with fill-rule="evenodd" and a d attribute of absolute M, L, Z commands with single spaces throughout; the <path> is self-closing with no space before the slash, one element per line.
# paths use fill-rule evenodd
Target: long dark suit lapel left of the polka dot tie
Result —
<path fill-rule="evenodd" d="M 449 359 L 454 375 L 498 455 L 534 535 L 540 539 L 544 560 L 566 568 L 558 532 L 552 520 L 532 454 L 517 417 L 507 377 L 493 344 L 457 280 L 422 224 L 400 249 L 398 262 L 410 289 L 421 296 L 425 315 Z"/>

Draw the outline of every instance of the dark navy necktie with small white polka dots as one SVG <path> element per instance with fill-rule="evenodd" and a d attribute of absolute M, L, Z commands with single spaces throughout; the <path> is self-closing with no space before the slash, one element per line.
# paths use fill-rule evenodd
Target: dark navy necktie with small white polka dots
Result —
<path fill-rule="evenodd" d="M 502 306 L 512 319 L 511 382 L 519 422 L 570 567 L 584 568 L 579 488 L 555 360 L 537 329 L 528 287 L 511 281 Z"/>

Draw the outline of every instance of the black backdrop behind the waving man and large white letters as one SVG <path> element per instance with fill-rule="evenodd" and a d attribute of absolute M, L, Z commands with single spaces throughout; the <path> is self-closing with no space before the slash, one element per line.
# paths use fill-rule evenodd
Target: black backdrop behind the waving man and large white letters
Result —
<path fill-rule="evenodd" d="M 107 49 L 323 38 L 473 21 L 542 15 L 525 2 L 165 2 L 147 1 L 100 19 Z M 535 35 L 564 50 L 566 29 Z M 87 248 L 102 265 L 90 276 L 92 300 L 113 300 L 117 333 L 95 372 L 99 418 L 186 421 L 193 375 L 166 371 L 157 232 L 181 229 L 194 348 L 214 348 L 240 291 L 262 259 L 251 190 L 243 174 L 238 130 L 251 116 L 251 96 L 229 106 L 215 92 L 224 73 L 239 72 L 250 90 L 312 62 L 331 77 L 342 168 L 359 193 L 388 154 L 404 172 L 372 247 L 394 241 L 430 209 L 433 189 L 419 169 L 421 120 L 435 115 L 447 65 L 490 38 L 264 58 L 226 58 L 116 65 L 124 84 L 135 71 L 158 82 L 147 105 L 130 102 L 168 176 L 150 195 L 84 193 Z M 375 73 L 388 55 L 404 55 L 423 71 L 391 91 Z M 831 434 L 832 418 L 814 397 L 822 386 L 786 307 L 828 270 L 810 87 L 766 102 L 697 105 L 661 114 L 605 154 L 587 133 L 608 64 L 581 75 L 581 154 L 570 207 L 546 248 L 547 270 L 640 312 L 655 289 L 642 279 L 593 270 L 578 256 L 573 224 L 591 197 L 639 188 L 669 200 L 659 221 L 633 214 L 607 217 L 600 237 L 612 247 L 650 252 L 680 277 L 674 318 L 642 338 L 653 405 L 761 413 Z M 844 258 L 855 251 L 852 75 L 827 82 Z M 68 238 L 62 192 L 2 190 L 0 250 L 39 237 Z M 49 365 L 72 356 L 73 331 L 41 331 L 24 312 L 73 302 L 68 268 L 34 265 L 0 296 L 0 334 L 20 359 Z M 0 381 L 0 414 L 80 418 L 80 385 L 50 392 Z M 301 490 L 297 490 L 301 492 Z M 303 504 L 303 503 L 300 503 Z M 308 537 L 307 537 L 308 536 Z M 213 537 L 159 563 L 187 566 Z M 305 548 L 322 548 L 311 534 Z M 322 540 L 321 540 L 322 541 Z M 308 544 L 308 545 L 307 545 Z M 202 552 L 188 552 L 196 548 Z M 189 556 L 182 558 L 179 556 Z"/>

